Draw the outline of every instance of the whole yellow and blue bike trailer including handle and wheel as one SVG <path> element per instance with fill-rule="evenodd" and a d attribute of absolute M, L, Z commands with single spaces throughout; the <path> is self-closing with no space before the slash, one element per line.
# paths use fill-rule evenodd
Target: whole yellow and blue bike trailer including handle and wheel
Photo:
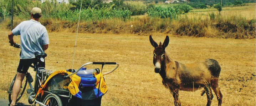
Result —
<path fill-rule="evenodd" d="M 101 73 L 99 69 L 86 70 L 85 66 L 89 64 L 102 65 L 102 69 L 104 65 L 116 67 L 109 72 Z M 29 96 L 29 100 L 42 106 L 51 105 L 52 100 L 60 106 L 100 106 L 102 96 L 108 91 L 103 76 L 112 73 L 118 66 L 115 62 L 89 62 L 77 71 L 73 70 L 74 72 L 55 71 L 41 84 L 35 95 Z"/>

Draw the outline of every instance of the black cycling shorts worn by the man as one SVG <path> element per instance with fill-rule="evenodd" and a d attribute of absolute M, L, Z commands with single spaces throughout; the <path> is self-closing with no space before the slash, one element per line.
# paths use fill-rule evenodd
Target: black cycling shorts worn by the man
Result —
<path fill-rule="evenodd" d="M 17 72 L 19 73 L 27 73 L 31 64 L 36 64 L 36 58 L 32 59 L 20 59 L 19 66 L 17 68 Z"/>

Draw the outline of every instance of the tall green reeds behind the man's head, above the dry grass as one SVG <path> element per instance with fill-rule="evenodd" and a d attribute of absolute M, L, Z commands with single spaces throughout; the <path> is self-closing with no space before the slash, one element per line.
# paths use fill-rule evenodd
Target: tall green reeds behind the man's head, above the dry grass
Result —
<path fill-rule="evenodd" d="M 0 0 L 0 17 L 8 17 L 10 14 L 9 0 Z M 20 18 L 30 18 L 30 11 L 33 7 L 39 7 L 42 9 L 42 18 L 54 18 L 60 20 L 77 21 L 79 10 L 71 10 L 73 5 L 70 4 L 58 4 L 56 1 L 46 1 L 41 4 L 40 1 L 31 0 L 14 0 L 14 16 Z M 127 9 L 117 10 L 112 7 L 106 7 L 103 9 L 87 8 L 81 11 L 81 20 L 101 20 L 111 18 L 130 18 L 132 12 Z"/>

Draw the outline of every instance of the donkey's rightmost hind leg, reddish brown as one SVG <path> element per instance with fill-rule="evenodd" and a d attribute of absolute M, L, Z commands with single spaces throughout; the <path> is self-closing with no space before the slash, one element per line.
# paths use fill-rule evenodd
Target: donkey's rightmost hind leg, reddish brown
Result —
<path fill-rule="evenodd" d="M 222 94 L 220 92 L 220 88 L 219 88 L 219 79 L 218 78 L 212 78 L 211 79 L 211 88 L 213 89 L 215 95 L 217 96 L 218 99 L 218 106 L 221 106 L 221 102 L 222 102 Z"/>

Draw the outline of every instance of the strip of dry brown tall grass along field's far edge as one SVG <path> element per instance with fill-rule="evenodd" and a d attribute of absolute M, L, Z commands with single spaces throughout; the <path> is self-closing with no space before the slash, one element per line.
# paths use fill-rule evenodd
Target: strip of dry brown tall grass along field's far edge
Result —
<path fill-rule="evenodd" d="M 14 26 L 23 20 L 26 19 L 15 17 Z M 49 32 L 76 32 L 77 28 L 77 22 L 69 20 L 44 18 L 41 19 L 40 22 Z M 138 35 L 163 33 L 195 37 L 255 39 L 255 24 L 255 19 L 246 19 L 239 15 L 229 17 L 216 15 L 215 19 L 210 19 L 209 16 L 198 16 L 193 18 L 182 16 L 179 19 L 143 17 L 130 18 L 125 21 L 122 18 L 112 18 L 82 21 L 80 24 L 79 32 L 111 34 L 125 33 Z M 10 19 L 7 19 L 4 23 L 2 23 L 1 27 L 10 29 Z"/>

